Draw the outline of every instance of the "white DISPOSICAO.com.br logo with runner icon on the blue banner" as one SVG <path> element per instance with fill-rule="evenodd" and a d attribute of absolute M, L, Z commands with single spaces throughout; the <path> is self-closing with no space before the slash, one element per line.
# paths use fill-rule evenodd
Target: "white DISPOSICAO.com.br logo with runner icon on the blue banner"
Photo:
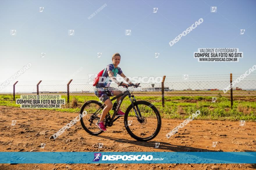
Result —
<path fill-rule="evenodd" d="M 153 158 L 152 155 L 102 155 L 101 153 L 94 153 L 93 162 L 99 161 L 102 156 L 102 160 L 106 161 L 150 161 L 150 160 L 163 160 L 164 158 Z"/>

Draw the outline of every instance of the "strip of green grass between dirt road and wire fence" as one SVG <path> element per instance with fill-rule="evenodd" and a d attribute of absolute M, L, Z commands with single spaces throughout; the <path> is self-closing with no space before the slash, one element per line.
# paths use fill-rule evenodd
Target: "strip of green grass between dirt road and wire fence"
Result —
<path fill-rule="evenodd" d="M 16 95 L 16 98 L 19 97 L 19 95 Z M 63 95 L 62 98 L 65 98 L 67 101 L 67 96 Z M 84 102 L 88 100 L 99 101 L 96 96 L 70 96 L 70 101 L 72 98 L 77 100 L 78 107 L 72 108 L 70 105 L 66 105 L 61 109 L 50 110 L 78 113 Z M 156 102 L 157 98 L 159 98 L 159 96 L 138 96 L 136 97 L 136 100 L 146 100 L 151 103 L 154 102 L 154 105 L 159 110 L 162 118 L 184 119 L 191 116 L 193 113 L 195 113 L 195 111 L 200 110 L 201 114 L 196 119 L 256 121 L 255 100 L 234 100 L 233 109 L 231 109 L 230 100 L 226 97 L 218 97 L 216 103 L 211 103 L 211 96 L 166 96 L 165 107 L 162 107 L 161 101 Z M 126 97 L 121 105 L 121 109 L 125 111 L 130 104 L 129 98 Z M 19 105 L 15 104 L 12 95 L 0 95 L 0 105 L 20 107 Z"/>

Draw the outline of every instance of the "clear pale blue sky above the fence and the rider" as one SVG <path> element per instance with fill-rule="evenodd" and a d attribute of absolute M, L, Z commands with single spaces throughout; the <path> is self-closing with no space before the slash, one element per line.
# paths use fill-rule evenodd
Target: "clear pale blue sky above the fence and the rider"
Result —
<path fill-rule="evenodd" d="M 88 79 L 87 74 L 111 63 L 115 52 L 121 54 L 119 66 L 126 76 L 243 74 L 256 64 L 255 5 L 253 0 L 1 1 L 0 82 L 27 63 L 32 67 L 17 80 L 67 80 L 81 67 L 73 79 Z M 210 6 L 217 6 L 217 12 L 211 13 Z M 202 24 L 170 47 L 171 40 L 200 18 Z M 12 29 L 16 36 L 10 35 Z M 74 36 L 68 36 L 69 29 Z M 126 29 L 131 36 L 125 36 Z M 240 29 L 245 29 L 243 35 Z M 213 47 L 239 48 L 244 57 L 238 63 L 193 58 L 198 48 Z M 100 58 L 97 52 L 102 52 Z"/>

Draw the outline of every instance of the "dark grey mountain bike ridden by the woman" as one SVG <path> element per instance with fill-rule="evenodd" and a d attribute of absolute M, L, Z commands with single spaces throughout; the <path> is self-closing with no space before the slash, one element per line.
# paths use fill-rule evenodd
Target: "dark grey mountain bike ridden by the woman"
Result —
<path fill-rule="evenodd" d="M 121 85 L 120 83 L 119 86 Z M 104 118 L 104 125 L 105 127 L 111 127 L 113 123 L 120 117 L 124 117 L 124 124 L 125 129 L 129 133 L 129 135 L 138 140 L 138 141 L 149 141 L 152 140 L 157 136 L 161 129 L 161 116 L 159 114 L 159 111 L 157 108 L 147 101 L 137 101 L 132 94 L 134 87 L 141 87 L 138 85 L 128 85 L 128 87 L 132 87 L 131 92 L 128 89 L 128 87 L 125 87 L 125 91 L 123 91 L 118 96 L 115 96 L 111 99 L 111 101 L 119 98 L 119 102 L 116 105 L 116 108 L 114 109 L 114 113 L 111 117 L 110 113 L 106 115 Z M 117 116 L 116 114 L 118 112 L 118 109 L 120 108 L 122 101 L 124 98 L 128 96 L 131 105 L 129 105 L 125 111 L 124 116 Z M 114 106 L 114 105 L 113 105 Z M 80 119 L 81 125 L 83 129 L 91 134 L 91 135 L 99 135 L 103 131 L 100 130 L 97 125 L 95 124 L 102 114 L 102 109 L 105 107 L 105 104 L 96 101 L 96 100 L 90 100 L 83 104 L 80 114 L 83 113 L 83 111 L 87 111 L 87 115 Z M 113 109 L 113 108 L 112 108 Z M 116 117 L 116 118 L 115 118 Z"/>

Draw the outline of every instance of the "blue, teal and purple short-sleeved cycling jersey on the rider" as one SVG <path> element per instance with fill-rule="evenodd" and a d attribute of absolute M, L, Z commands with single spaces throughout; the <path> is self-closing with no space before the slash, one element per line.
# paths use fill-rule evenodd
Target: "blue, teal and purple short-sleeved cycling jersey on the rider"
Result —
<path fill-rule="evenodd" d="M 111 70 L 113 72 L 115 77 L 117 76 L 117 74 L 120 75 L 122 73 L 122 70 L 120 67 L 115 68 L 113 64 L 107 65 L 103 71 L 102 78 L 99 79 L 99 82 L 103 82 L 103 83 L 98 83 L 99 86 L 101 86 L 101 87 L 109 87 L 110 86 L 110 83 L 112 80 L 108 74 L 109 70 Z M 104 81 L 104 78 L 106 79 L 106 81 Z"/>

